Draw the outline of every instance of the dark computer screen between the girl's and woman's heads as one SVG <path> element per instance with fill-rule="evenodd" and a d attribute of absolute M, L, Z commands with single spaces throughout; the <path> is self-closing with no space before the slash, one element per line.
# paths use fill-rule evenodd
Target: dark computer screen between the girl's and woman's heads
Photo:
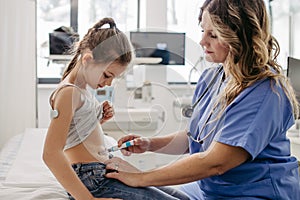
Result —
<path fill-rule="evenodd" d="M 185 33 L 130 32 L 136 57 L 160 57 L 163 65 L 185 64 Z"/>

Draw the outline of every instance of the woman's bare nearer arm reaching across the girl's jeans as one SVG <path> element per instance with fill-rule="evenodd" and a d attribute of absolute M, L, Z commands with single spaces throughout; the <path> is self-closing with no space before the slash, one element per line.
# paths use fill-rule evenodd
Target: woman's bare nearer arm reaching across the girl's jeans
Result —
<path fill-rule="evenodd" d="M 142 173 L 119 171 L 106 176 L 119 179 L 133 187 L 176 185 L 221 175 L 249 158 L 248 152 L 240 147 L 214 142 L 205 152 L 193 154 L 152 171 Z"/>

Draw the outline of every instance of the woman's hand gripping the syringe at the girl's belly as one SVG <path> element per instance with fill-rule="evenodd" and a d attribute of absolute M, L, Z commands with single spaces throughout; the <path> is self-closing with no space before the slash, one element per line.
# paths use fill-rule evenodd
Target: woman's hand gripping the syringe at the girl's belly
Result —
<path fill-rule="evenodd" d="M 138 135 L 126 135 L 119 139 L 118 146 L 121 146 L 124 142 L 133 140 L 134 146 L 122 149 L 121 152 L 124 156 L 130 156 L 131 153 L 144 153 L 149 150 L 151 140 L 146 137 Z"/>

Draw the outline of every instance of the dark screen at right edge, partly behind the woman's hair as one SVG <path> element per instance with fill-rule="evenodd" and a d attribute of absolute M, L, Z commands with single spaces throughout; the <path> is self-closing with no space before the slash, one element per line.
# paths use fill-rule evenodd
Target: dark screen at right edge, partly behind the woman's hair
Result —
<path fill-rule="evenodd" d="M 300 59 L 288 57 L 287 77 L 290 79 L 292 87 L 300 103 Z"/>

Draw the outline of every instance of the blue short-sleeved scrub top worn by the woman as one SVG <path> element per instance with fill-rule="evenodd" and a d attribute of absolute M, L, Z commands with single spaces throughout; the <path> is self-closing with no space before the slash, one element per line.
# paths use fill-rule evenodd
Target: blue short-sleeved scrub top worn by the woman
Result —
<path fill-rule="evenodd" d="M 201 96 L 219 67 L 203 72 L 193 102 Z M 197 181 L 201 195 L 205 199 L 300 199 L 298 163 L 290 155 L 290 141 L 286 136 L 294 118 L 282 88 L 270 79 L 257 81 L 226 107 L 221 118 L 213 120 L 217 115 L 211 112 L 215 99 L 227 82 L 222 81 L 222 77 L 222 73 L 218 75 L 194 110 L 190 120 L 192 136 L 201 139 L 211 134 L 203 144 L 189 139 L 190 153 L 207 150 L 214 140 L 245 149 L 251 159 L 222 175 Z M 209 115 L 209 123 L 203 127 Z"/>

